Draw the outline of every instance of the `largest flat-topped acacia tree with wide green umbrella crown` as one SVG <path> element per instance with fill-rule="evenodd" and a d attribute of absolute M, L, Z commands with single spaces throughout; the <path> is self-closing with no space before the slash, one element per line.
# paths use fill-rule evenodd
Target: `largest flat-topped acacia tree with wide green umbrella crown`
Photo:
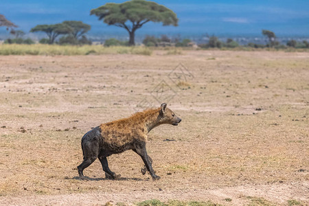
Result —
<path fill-rule="evenodd" d="M 178 25 L 176 14 L 153 1 L 132 0 L 124 3 L 106 3 L 99 8 L 93 9 L 91 15 L 99 17 L 108 25 L 122 27 L 130 35 L 129 45 L 135 45 L 135 31 L 145 23 L 162 22 L 163 25 Z"/>

